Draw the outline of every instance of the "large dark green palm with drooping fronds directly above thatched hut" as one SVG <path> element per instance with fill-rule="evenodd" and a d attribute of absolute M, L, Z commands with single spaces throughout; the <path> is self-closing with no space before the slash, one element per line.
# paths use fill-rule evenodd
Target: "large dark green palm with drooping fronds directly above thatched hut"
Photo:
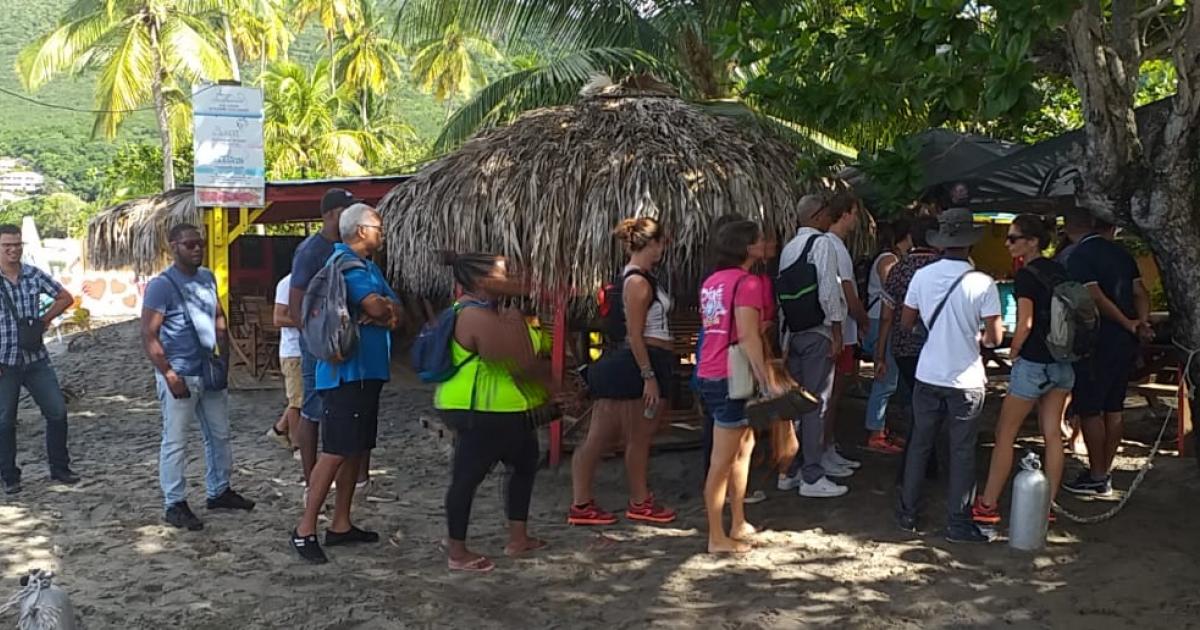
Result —
<path fill-rule="evenodd" d="M 772 0 L 748 0 L 770 4 Z M 516 65 L 466 102 L 446 121 L 434 149 L 461 144 L 482 127 L 524 110 L 572 102 L 598 73 L 653 71 L 683 96 L 738 110 L 800 143 L 853 155 L 853 149 L 812 130 L 730 103 L 734 88 L 758 68 L 739 68 L 722 55 L 721 30 L 743 2 L 696 0 L 402 0 L 401 32 L 427 37 L 440 29 L 451 4 L 462 28 L 498 34 Z M 814 0 L 820 5 L 821 0 Z M 406 40 L 407 43 L 408 40 Z"/>

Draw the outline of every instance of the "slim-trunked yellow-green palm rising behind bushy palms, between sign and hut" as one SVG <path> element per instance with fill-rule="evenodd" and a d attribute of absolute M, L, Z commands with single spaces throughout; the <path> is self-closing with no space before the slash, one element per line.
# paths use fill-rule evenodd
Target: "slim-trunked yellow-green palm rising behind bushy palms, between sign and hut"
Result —
<path fill-rule="evenodd" d="M 403 76 L 396 58 L 404 54 L 400 42 L 384 35 L 386 25 L 376 12 L 372 0 L 360 0 L 361 22 L 354 32 L 338 37 L 341 47 L 334 56 L 340 66 L 344 88 L 356 95 L 361 124 L 365 127 L 370 98 L 383 96 L 388 82 Z"/>

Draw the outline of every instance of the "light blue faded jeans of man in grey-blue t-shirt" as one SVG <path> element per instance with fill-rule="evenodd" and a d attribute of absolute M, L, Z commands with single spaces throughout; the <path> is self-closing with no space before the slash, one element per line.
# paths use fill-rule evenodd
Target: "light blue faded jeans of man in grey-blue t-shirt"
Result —
<path fill-rule="evenodd" d="M 204 391 L 200 377 L 184 377 L 192 395 L 175 398 L 167 379 L 155 372 L 162 406 L 162 446 L 158 450 L 158 484 L 166 506 L 187 500 L 187 431 L 199 420 L 204 438 L 204 485 L 215 499 L 229 488 L 233 451 L 229 448 L 229 392 Z"/>

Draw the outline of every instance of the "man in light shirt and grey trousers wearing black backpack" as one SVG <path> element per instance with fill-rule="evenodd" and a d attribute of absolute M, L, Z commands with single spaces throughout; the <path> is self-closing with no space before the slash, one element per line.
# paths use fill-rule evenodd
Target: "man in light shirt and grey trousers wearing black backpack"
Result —
<path fill-rule="evenodd" d="M 845 209 L 842 210 L 842 212 Z M 800 199 L 802 228 L 786 246 L 779 258 L 780 276 L 790 272 L 793 264 L 808 250 L 808 262 L 816 268 L 817 295 L 824 322 L 806 330 L 793 330 L 787 318 L 781 324 L 787 331 L 787 371 L 796 382 L 821 397 L 821 406 L 796 420 L 796 434 L 800 438 L 797 454 L 787 475 L 779 478 L 779 490 L 799 488 L 802 497 L 840 497 L 848 488 L 829 480 L 853 474 L 850 468 L 828 466 L 824 461 L 824 413 L 833 390 L 834 359 L 841 353 L 841 326 L 846 319 L 846 296 L 838 282 L 838 257 L 824 230 L 841 214 L 834 216 L 821 196 L 810 194 Z"/>

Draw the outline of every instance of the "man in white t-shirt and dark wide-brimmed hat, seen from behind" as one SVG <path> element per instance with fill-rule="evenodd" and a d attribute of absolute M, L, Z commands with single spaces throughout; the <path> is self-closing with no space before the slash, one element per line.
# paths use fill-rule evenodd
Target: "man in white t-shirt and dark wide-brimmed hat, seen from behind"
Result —
<path fill-rule="evenodd" d="M 988 532 L 971 521 L 976 486 L 976 440 L 983 412 L 988 374 L 979 354 L 983 344 L 1003 340 L 1000 293 L 990 276 L 968 260 L 971 246 L 983 236 L 970 210 L 952 208 L 930 230 L 929 244 L 942 250 L 942 259 L 917 271 L 908 286 L 900 325 L 912 330 L 918 320 L 928 330 L 917 362 L 912 394 L 913 427 L 905 462 L 904 486 L 896 508 L 901 529 L 917 530 L 917 505 L 926 461 L 941 426 L 949 434 L 946 540 L 986 542 Z"/>

